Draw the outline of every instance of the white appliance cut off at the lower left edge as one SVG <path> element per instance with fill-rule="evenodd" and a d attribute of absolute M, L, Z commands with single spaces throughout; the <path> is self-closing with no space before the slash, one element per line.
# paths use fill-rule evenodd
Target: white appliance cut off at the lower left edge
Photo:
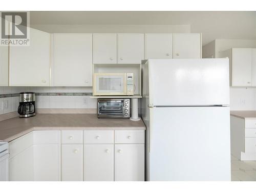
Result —
<path fill-rule="evenodd" d="M 0 141 L 0 181 L 9 181 L 9 151 L 5 141 Z"/>

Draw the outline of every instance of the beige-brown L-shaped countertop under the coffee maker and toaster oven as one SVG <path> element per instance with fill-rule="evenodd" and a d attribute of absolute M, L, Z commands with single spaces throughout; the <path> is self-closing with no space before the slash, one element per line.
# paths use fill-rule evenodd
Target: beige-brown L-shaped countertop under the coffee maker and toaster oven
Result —
<path fill-rule="evenodd" d="M 0 140 L 11 141 L 33 130 L 145 130 L 142 120 L 97 118 L 96 114 L 37 114 L 0 121 Z"/>

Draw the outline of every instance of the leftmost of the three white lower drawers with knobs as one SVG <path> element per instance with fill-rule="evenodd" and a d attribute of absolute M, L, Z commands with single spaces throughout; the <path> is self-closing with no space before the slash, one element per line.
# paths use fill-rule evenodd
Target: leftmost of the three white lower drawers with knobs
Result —
<path fill-rule="evenodd" d="M 61 131 L 61 143 L 62 144 L 82 144 L 83 143 L 83 131 L 82 130 L 65 130 Z"/>

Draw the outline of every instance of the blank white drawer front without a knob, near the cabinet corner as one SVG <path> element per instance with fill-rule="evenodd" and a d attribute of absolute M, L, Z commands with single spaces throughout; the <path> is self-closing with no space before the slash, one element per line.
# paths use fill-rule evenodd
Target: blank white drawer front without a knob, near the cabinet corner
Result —
<path fill-rule="evenodd" d="M 34 144 L 57 144 L 60 142 L 60 131 L 34 131 Z"/>

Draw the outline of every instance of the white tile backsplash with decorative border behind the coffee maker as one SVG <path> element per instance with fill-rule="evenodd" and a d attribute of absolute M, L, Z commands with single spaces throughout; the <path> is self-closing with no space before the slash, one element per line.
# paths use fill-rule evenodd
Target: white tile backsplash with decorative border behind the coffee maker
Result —
<path fill-rule="evenodd" d="M 20 92 L 36 93 L 37 109 L 96 109 L 87 87 L 0 87 L 0 115 L 17 111 Z M 8 108 L 4 109 L 4 102 Z"/>

